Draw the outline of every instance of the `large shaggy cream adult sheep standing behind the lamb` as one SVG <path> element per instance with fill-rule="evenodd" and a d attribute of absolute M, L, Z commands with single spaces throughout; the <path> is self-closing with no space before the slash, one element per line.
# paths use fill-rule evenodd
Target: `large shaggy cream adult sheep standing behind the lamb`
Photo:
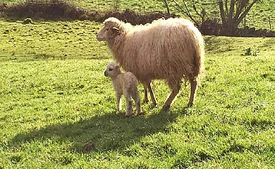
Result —
<path fill-rule="evenodd" d="M 183 18 L 154 20 L 151 24 L 133 26 L 116 18 L 104 21 L 97 34 L 109 46 L 121 67 L 132 72 L 157 105 L 152 80 L 165 80 L 171 89 L 164 109 L 169 108 L 181 89 L 181 79 L 190 81 L 189 106 L 195 103 L 199 75 L 204 70 L 204 40 L 197 27 Z"/>

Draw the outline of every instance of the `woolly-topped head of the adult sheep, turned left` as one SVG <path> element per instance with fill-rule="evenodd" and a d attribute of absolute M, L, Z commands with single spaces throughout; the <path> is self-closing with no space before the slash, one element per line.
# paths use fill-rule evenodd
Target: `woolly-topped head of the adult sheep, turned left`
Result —
<path fill-rule="evenodd" d="M 97 33 L 98 41 L 110 42 L 111 39 L 122 35 L 124 31 L 123 22 L 117 18 L 108 18 L 104 21 L 104 27 Z"/>

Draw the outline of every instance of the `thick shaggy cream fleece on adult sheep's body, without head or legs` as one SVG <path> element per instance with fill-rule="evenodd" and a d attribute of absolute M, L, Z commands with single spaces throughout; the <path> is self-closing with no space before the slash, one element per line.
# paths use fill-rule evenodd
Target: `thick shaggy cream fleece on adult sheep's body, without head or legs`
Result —
<path fill-rule="evenodd" d="M 137 26 L 127 33 L 125 46 L 115 57 L 140 81 L 192 77 L 197 71 L 194 56 L 198 41 L 202 40 L 197 32 L 190 21 L 183 19 Z"/>

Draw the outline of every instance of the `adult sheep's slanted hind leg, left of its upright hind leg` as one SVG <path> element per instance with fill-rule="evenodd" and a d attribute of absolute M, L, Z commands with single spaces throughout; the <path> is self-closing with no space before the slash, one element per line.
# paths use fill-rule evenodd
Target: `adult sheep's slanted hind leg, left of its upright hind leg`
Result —
<path fill-rule="evenodd" d="M 176 98 L 178 92 L 180 92 L 181 89 L 181 81 L 178 80 L 177 82 L 169 82 L 169 87 L 172 90 L 171 93 L 169 94 L 168 98 L 165 101 L 165 104 L 163 106 L 163 110 L 167 110 L 170 108 L 171 104 L 173 103 L 174 99 Z"/>

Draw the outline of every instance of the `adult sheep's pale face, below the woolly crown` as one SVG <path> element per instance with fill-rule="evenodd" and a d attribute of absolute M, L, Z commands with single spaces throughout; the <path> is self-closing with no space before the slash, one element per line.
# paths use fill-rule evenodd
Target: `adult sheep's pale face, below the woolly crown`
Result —
<path fill-rule="evenodd" d="M 115 26 L 115 23 L 104 23 L 102 30 L 97 33 L 97 40 L 109 42 L 118 35 L 121 35 L 121 31 Z"/>

